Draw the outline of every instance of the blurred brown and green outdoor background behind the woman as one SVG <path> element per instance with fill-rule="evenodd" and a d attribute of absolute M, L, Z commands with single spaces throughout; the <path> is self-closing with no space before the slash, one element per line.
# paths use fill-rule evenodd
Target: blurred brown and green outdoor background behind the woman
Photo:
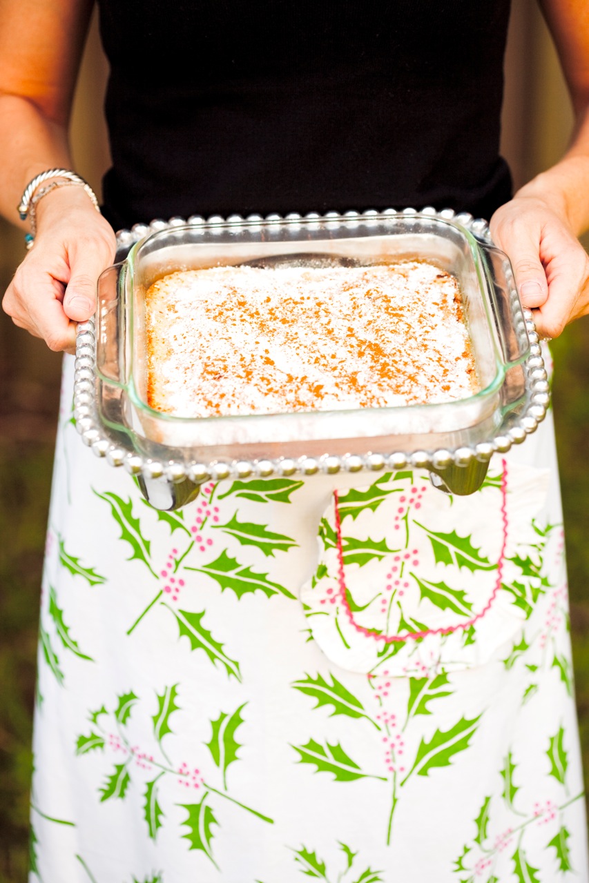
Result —
<path fill-rule="evenodd" d="M 513 0 L 503 154 L 516 185 L 555 162 L 571 115 L 555 51 L 534 0 Z M 102 101 L 107 67 L 93 22 L 76 94 L 76 168 L 95 186 L 108 167 Z M 149 221 L 149 218 L 138 218 Z M 589 239 L 585 238 L 585 247 Z M 0 222 L 0 291 L 24 255 Z M 589 320 L 553 344 L 555 416 L 570 573 L 578 713 L 589 772 Z M 60 357 L 0 315 L 0 883 L 27 879 L 28 785 L 37 611 L 50 496 Z"/>

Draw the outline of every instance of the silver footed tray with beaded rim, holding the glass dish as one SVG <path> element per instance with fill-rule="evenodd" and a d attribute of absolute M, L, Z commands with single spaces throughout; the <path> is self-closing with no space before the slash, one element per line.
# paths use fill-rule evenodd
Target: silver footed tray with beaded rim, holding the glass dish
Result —
<path fill-rule="evenodd" d="M 159 235 L 147 239 L 153 233 Z M 394 255 L 420 252 L 416 242 L 423 244 L 426 258 L 458 275 L 484 387 L 477 396 L 441 405 L 200 420 L 173 419 L 145 404 L 142 291 L 152 277 L 260 253 L 370 253 L 383 242 L 394 245 Z M 157 509 L 184 505 L 209 479 L 408 466 L 428 470 L 442 490 L 471 494 L 493 452 L 523 442 L 546 415 L 547 372 L 532 313 L 522 310 L 509 260 L 493 247 L 486 222 L 471 215 L 425 208 L 172 218 L 120 230 L 117 243 L 118 263 L 99 281 L 96 318 L 78 329 L 74 417 L 83 442 L 137 476 Z"/>

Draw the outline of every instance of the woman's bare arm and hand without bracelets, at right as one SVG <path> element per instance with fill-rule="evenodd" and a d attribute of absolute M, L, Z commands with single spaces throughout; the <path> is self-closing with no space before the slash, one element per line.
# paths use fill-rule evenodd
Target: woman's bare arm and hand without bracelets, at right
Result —
<path fill-rule="evenodd" d="M 575 128 L 562 160 L 501 206 L 491 231 L 509 254 L 539 334 L 556 337 L 589 313 L 589 258 L 577 238 L 589 227 L 589 4 L 543 0 L 542 7 L 570 89 Z"/>

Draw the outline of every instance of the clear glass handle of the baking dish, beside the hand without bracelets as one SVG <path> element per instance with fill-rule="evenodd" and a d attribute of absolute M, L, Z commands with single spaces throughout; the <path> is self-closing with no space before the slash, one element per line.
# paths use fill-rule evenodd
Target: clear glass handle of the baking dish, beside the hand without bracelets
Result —
<path fill-rule="evenodd" d="M 511 262 L 496 245 L 479 243 L 486 268 L 487 283 L 495 308 L 495 323 L 506 364 L 522 362 L 530 354 L 530 340 L 524 312 L 516 289 Z"/>

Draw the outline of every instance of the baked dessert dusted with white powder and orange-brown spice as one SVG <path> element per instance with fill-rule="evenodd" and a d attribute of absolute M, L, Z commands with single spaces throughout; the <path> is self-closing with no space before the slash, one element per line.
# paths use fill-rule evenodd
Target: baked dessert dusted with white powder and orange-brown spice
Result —
<path fill-rule="evenodd" d="M 178 417 L 478 391 L 458 283 L 422 260 L 180 270 L 150 286 L 145 321 L 148 404 Z"/>

